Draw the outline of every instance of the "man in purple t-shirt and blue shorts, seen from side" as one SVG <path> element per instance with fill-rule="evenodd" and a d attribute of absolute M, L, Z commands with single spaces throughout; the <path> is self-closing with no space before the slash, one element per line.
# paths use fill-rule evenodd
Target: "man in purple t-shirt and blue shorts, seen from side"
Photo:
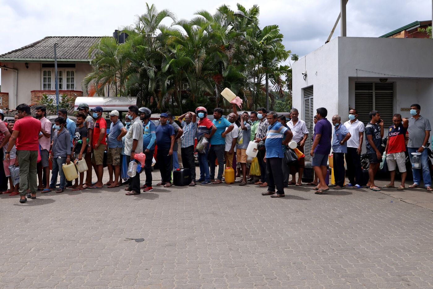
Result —
<path fill-rule="evenodd" d="M 314 173 L 319 179 L 319 184 L 315 194 L 323 194 L 329 190 L 328 185 L 325 183 L 326 177 L 326 165 L 328 164 L 328 154 L 331 152 L 331 137 L 332 137 L 332 125 L 326 119 L 328 111 L 326 108 L 317 108 L 317 123 L 314 126 L 314 141 L 311 147 L 310 155 L 313 156 L 312 166 Z"/>

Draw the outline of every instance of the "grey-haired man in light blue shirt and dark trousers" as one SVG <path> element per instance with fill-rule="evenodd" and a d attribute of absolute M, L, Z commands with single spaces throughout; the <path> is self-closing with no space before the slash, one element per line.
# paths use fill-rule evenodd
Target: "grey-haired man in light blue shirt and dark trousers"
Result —
<path fill-rule="evenodd" d="M 333 151 L 333 162 L 334 162 L 334 178 L 335 187 L 334 190 L 343 189 L 344 186 L 344 154 L 347 153 L 347 140 L 350 138 L 350 133 L 346 126 L 341 123 L 341 117 L 334 115 L 332 117 L 332 124 L 335 129 L 332 136 L 332 151 Z"/>

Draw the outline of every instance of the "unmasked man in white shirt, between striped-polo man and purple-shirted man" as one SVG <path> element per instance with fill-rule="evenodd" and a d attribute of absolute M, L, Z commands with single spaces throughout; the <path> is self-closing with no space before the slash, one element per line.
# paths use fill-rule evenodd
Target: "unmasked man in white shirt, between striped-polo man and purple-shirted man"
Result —
<path fill-rule="evenodd" d="M 305 122 L 299 119 L 299 112 L 296 108 L 292 108 L 290 111 L 291 120 L 288 122 L 288 127 L 291 129 L 293 138 L 292 141 L 296 141 L 297 149 L 304 152 L 304 144 L 305 140 L 308 138 L 308 129 Z M 288 183 L 296 184 L 297 186 L 302 186 L 302 174 L 304 173 L 305 168 L 305 158 L 300 158 L 297 163 L 293 166 L 294 174 L 292 174 L 292 180 Z M 292 172 L 293 172 L 292 171 Z M 298 181 L 296 179 L 296 172 L 298 173 Z"/>

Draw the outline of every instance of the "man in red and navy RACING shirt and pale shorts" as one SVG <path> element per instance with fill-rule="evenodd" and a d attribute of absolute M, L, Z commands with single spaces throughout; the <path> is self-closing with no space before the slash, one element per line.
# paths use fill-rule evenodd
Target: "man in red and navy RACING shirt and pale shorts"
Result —
<path fill-rule="evenodd" d="M 404 181 L 406 180 L 406 144 L 405 136 L 409 120 L 401 119 L 401 115 L 396 113 L 392 118 L 392 123 L 388 129 L 388 141 L 386 142 L 386 164 L 391 176 L 391 182 L 384 187 L 394 187 L 395 168 L 398 166 L 398 171 L 401 174 L 401 185 L 397 190 L 404 190 Z"/>

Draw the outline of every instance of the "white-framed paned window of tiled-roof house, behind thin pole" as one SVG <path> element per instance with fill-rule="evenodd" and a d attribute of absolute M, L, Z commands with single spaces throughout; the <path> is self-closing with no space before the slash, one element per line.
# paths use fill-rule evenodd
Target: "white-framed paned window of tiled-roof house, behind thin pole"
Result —
<path fill-rule="evenodd" d="M 74 90 L 75 89 L 75 70 L 70 68 L 57 69 L 58 73 L 58 89 L 59 90 Z M 42 89 L 55 89 L 55 70 L 42 69 Z"/>

